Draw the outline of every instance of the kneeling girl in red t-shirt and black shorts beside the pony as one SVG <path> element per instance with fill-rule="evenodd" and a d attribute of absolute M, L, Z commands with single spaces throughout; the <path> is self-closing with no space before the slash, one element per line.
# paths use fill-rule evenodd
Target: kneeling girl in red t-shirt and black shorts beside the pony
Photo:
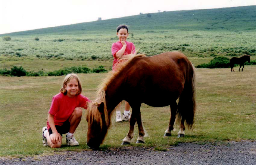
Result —
<path fill-rule="evenodd" d="M 62 134 L 66 133 L 68 146 L 79 145 L 73 134 L 81 121 L 82 108 L 87 108 L 87 102 L 90 102 L 81 92 L 78 76 L 74 73 L 68 74 L 64 78 L 60 93 L 52 98 L 47 127 L 42 129 L 44 146 L 61 147 Z"/>

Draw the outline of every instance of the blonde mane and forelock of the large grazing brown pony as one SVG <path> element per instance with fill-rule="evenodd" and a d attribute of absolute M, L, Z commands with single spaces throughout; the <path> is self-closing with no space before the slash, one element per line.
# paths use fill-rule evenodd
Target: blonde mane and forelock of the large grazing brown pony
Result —
<path fill-rule="evenodd" d="M 144 54 L 130 54 L 126 55 L 126 58 L 120 59 L 121 61 L 118 63 L 118 66 L 116 66 L 115 71 L 110 71 L 108 73 L 108 76 L 104 79 L 104 81 L 98 86 L 98 90 L 96 92 L 98 98 L 95 101 L 92 101 L 89 103 L 89 121 L 92 123 L 95 121 L 97 124 L 100 125 L 102 128 L 103 121 L 101 119 L 101 113 L 98 111 L 98 105 L 100 105 L 102 102 L 104 103 L 104 116 L 105 116 L 105 122 L 107 127 L 110 126 L 110 116 L 108 115 L 107 106 L 106 106 L 106 99 L 105 99 L 105 91 L 108 88 L 108 85 L 110 82 L 113 81 L 113 79 L 125 68 L 127 64 L 130 63 L 130 61 L 135 57 L 144 57 Z"/>

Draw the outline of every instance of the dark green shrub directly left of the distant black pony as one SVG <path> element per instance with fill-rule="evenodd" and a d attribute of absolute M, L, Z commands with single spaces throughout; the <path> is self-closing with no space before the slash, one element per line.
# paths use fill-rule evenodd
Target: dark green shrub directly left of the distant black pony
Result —
<path fill-rule="evenodd" d="M 228 68 L 229 58 L 226 57 L 214 57 L 208 64 L 197 65 L 197 68 Z"/>

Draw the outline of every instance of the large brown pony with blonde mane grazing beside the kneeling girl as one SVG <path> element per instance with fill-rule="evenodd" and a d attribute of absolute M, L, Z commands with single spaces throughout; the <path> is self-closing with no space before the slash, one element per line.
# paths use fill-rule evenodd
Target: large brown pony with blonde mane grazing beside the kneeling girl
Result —
<path fill-rule="evenodd" d="M 170 122 L 164 136 L 171 136 L 176 116 L 181 123 L 178 137 L 185 135 L 185 122 L 192 128 L 196 108 L 195 72 L 183 53 L 164 52 L 151 57 L 136 55 L 119 68 L 106 78 L 98 90 L 98 98 L 88 108 L 87 145 L 90 148 L 98 149 L 103 143 L 111 114 L 123 100 L 130 104 L 132 114 L 130 130 L 122 144 L 130 144 L 136 122 L 139 129 L 136 143 L 145 142 L 140 113 L 142 103 L 152 107 L 170 105 Z"/>

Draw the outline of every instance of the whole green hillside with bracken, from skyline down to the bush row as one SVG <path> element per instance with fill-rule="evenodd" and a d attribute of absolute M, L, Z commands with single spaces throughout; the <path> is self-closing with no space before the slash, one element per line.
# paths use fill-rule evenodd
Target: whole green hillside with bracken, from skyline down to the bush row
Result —
<path fill-rule="evenodd" d="M 129 26 L 138 53 L 148 56 L 181 51 L 194 65 L 214 57 L 251 55 L 256 59 L 256 6 L 148 13 L 123 18 L 4 34 L 0 69 L 14 65 L 27 71 L 63 67 L 111 69 L 116 27 Z"/>

